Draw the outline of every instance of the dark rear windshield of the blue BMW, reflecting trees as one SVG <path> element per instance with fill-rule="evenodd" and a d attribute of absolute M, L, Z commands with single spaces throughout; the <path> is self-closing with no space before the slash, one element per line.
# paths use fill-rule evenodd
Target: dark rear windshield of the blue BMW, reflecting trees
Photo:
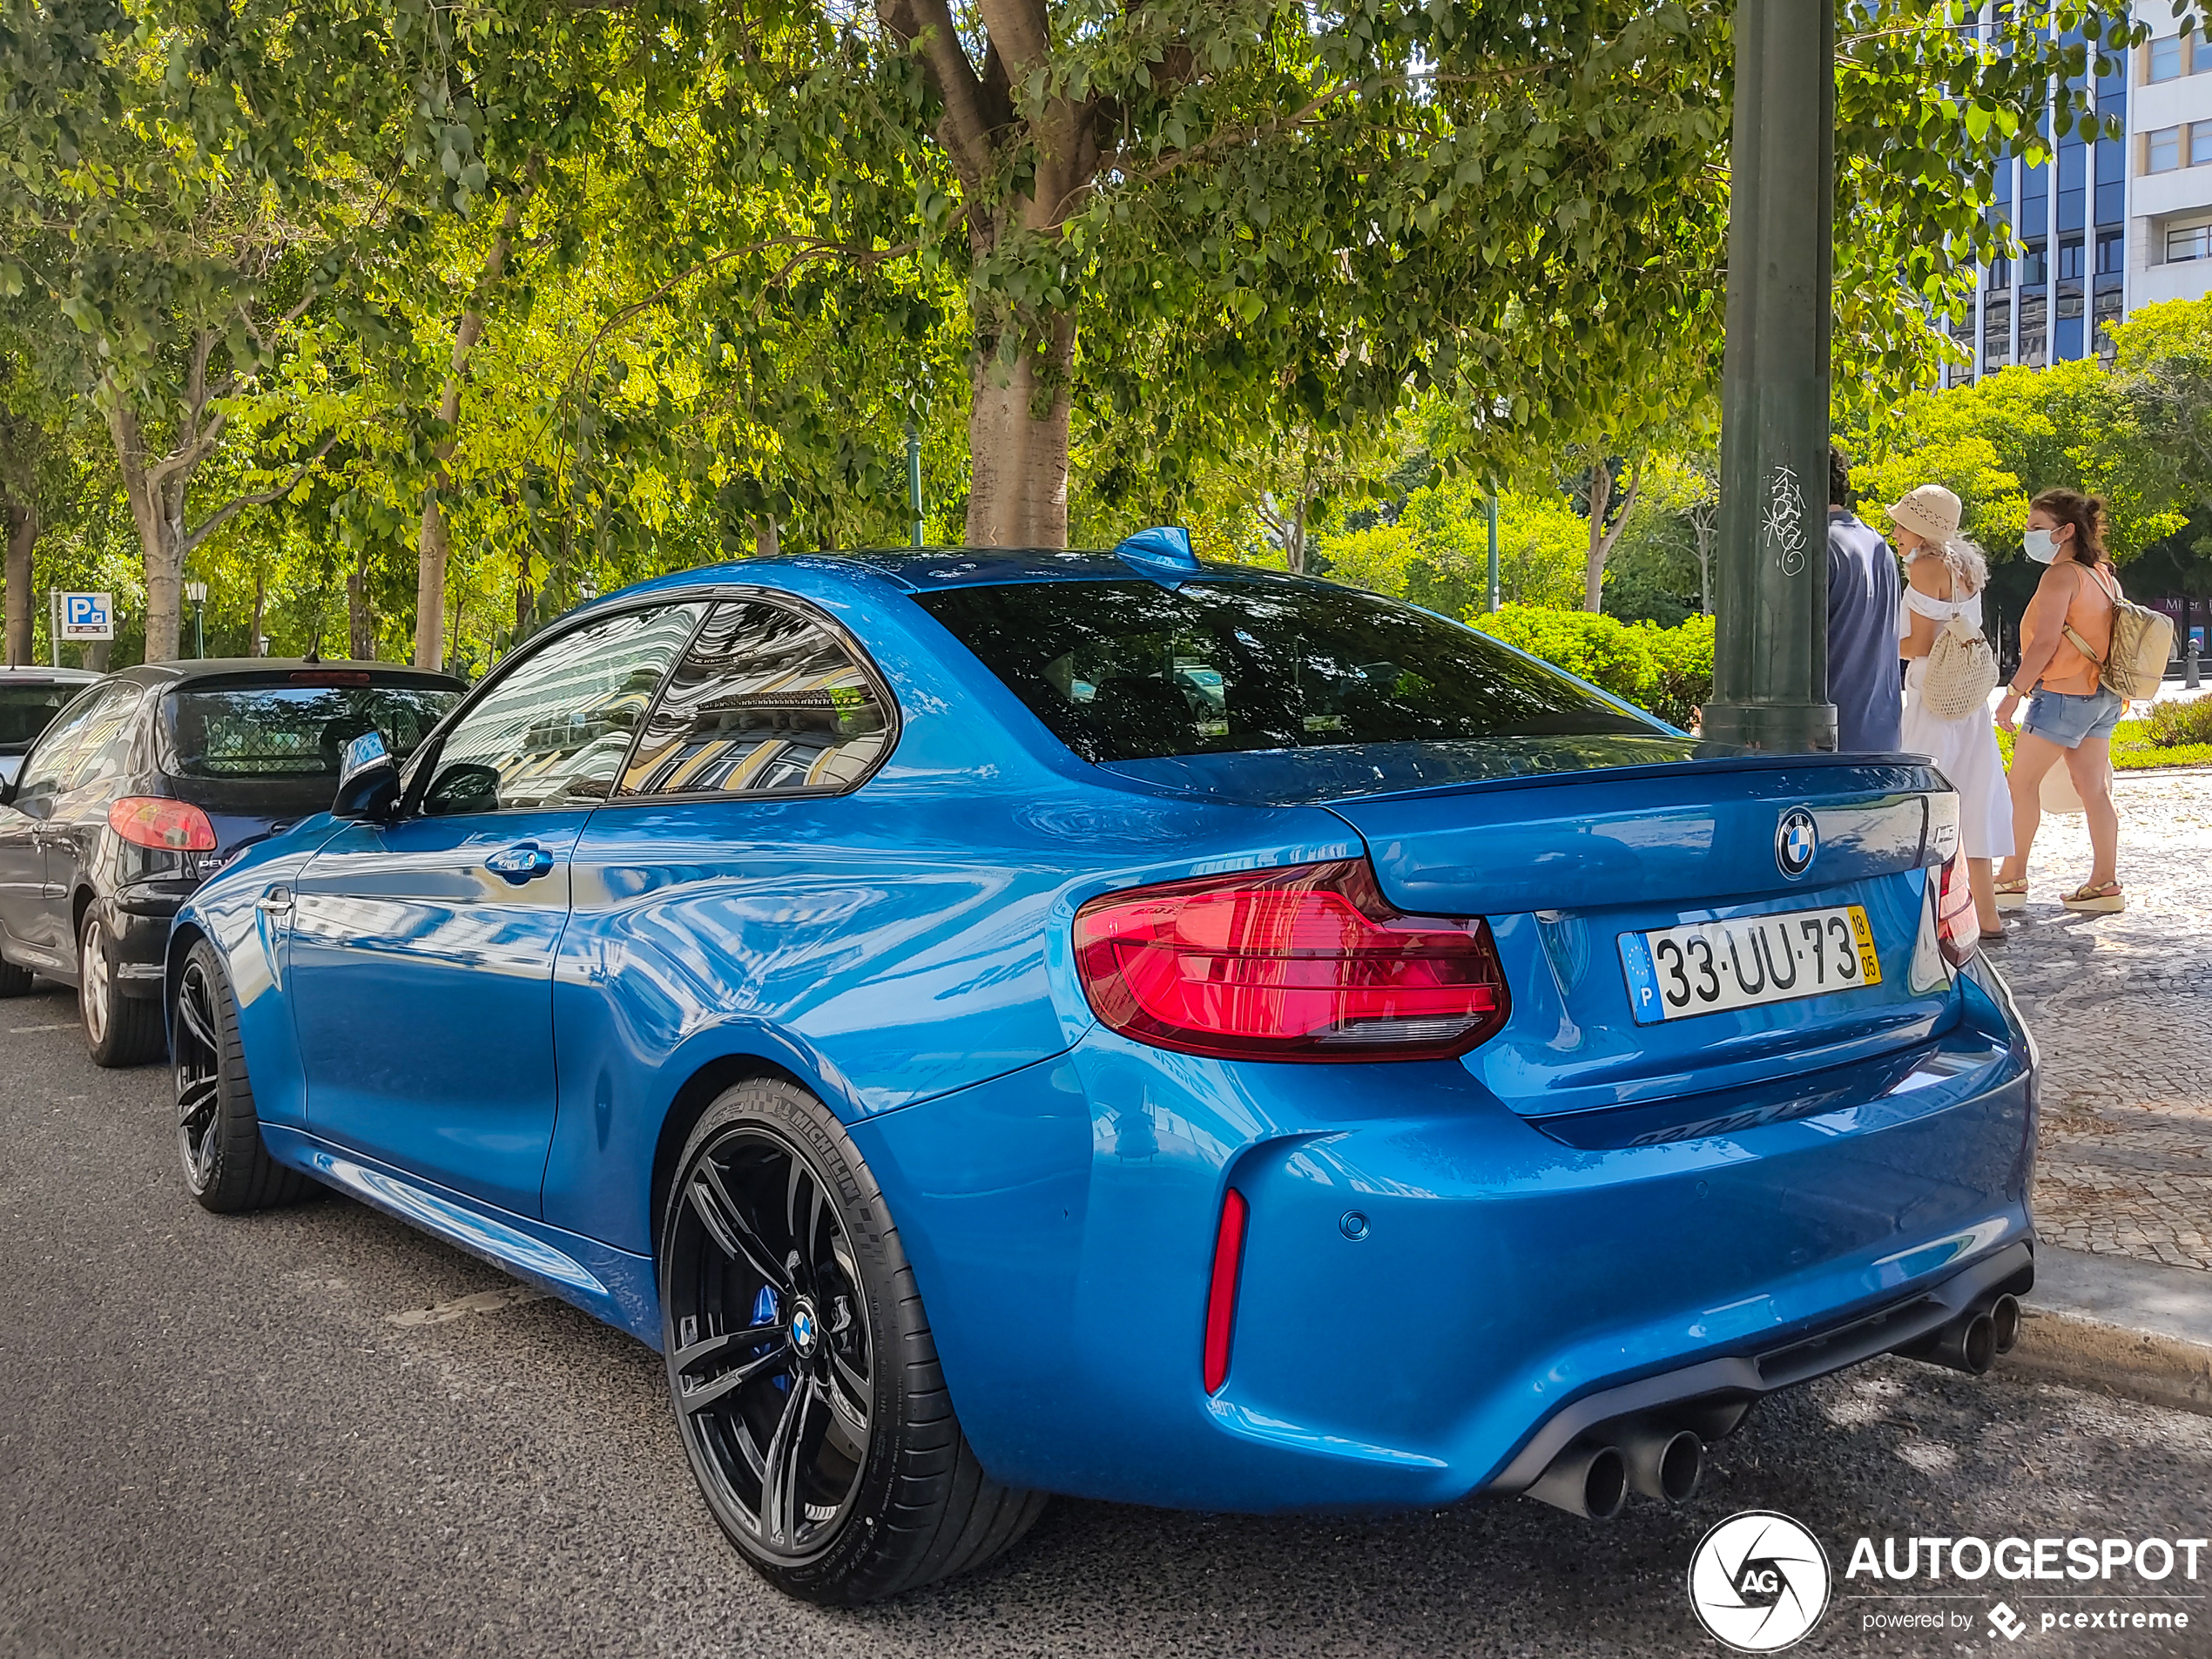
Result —
<path fill-rule="evenodd" d="M 1086 761 L 1652 726 L 1358 588 L 1020 582 L 916 595 Z"/>

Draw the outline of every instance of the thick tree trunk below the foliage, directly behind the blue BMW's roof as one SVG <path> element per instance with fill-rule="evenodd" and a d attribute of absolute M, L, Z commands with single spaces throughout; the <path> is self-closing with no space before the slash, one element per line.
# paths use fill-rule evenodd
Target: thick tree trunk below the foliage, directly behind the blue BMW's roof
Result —
<path fill-rule="evenodd" d="M 971 369 L 969 546 L 1066 546 L 1075 319 L 1055 316 L 1048 347 L 1024 349 L 1011 374 L 995 347 L 978 338 Z"/>

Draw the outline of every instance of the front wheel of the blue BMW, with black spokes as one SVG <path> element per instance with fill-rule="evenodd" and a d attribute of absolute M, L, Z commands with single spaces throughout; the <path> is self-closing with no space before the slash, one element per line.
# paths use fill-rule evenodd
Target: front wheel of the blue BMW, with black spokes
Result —
<path fill-rule="evenodd" d="M 288 1170 L 261 1144 L 239 1006 L 223 958 L 208 940 L 195 942 L 184 958 L 170 1048 L 177 1057 L 177 1152 L 184 1183 L 204 1210 L 268 1210 L 316 1192 L 312 1179 Z"/>

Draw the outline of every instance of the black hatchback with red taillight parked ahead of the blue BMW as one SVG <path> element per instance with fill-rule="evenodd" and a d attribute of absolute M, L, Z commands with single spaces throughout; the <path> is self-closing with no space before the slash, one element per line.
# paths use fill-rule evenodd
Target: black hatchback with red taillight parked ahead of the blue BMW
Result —
<path fill-rule="evenodd" d="M 102 1066 L 161 1055 L 179 905 L 243 847 L 325 812 L 345 745 L 414 750 L 449 675 L 363 661 L 170 661 L 111 675 L 0 785 L 0 998 L 77 987 Z"/>

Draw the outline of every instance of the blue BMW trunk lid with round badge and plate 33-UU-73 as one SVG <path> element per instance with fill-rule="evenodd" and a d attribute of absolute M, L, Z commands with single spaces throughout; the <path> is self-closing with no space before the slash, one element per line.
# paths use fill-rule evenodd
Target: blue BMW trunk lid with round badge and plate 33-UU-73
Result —
<path fill-rule="evenodd" d="M 1907 1051 L 1955 1020 L 1931 878 L 1958 845 L 1958 799 L 1933 768 L 1732 757 L 1338 799 L 1329 810 L 1367 843 L 1391 905 L 1489 918 L 1513 1013 L 1464 1064 L 1517 1113 L 1697 1097 L 1719 1117 L 1732 1091 Z M 1655 969 L 1666 1000 L 1692 980 L 1668 978 L 1679 953 L 1648 936 L 1688 927 L 1750 953 L 1708 964 L 1699 982 L 1750 989 L 1756 973 L 1772 995 L 1787 964 L 1787 1000 L 1659 1018 Z M 1845 929 L 1863 933 L 1878 984 L 1856 971 L 1843 980 L 1865 962 Z M 1829 931 L 1836 953 L 1796 945 Z M 1814 987 L 1834 973 L 1840 989 L 1801 993 L 1814 971 Z"/>

